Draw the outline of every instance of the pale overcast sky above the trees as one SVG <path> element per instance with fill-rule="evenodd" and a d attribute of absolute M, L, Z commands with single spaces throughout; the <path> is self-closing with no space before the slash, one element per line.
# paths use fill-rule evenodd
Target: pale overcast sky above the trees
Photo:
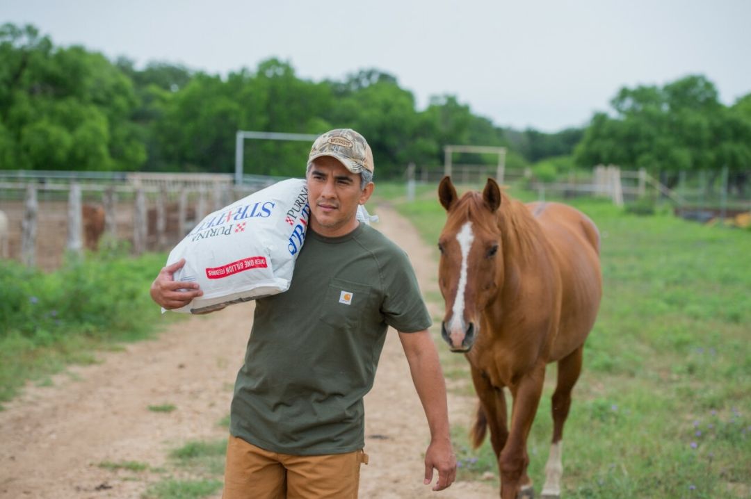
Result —
<path fill-rule="evenodd" d="M 751 92 L 751 0 L 0 0 L 0 20 L 137 68 L 225 76 L 278 57 L 314 81 L 376 68 L 419 110 L 450 94 L 542 131 L 586 125 L 623 86 L 704 74 L 724 104 Z"/>

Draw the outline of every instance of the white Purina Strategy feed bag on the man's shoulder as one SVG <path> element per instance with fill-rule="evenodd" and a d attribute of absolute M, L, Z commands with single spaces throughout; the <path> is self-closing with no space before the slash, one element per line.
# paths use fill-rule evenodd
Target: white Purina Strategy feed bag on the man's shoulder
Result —
<path fill-rule="evenodd" d="M 278 182 L 208 215 L 170 251 L 185 258 L 175 281 L 198 282 L 203 296 L 177 312 L 199 313 L 289 289 L 310 217 L 303 179 Z"/>

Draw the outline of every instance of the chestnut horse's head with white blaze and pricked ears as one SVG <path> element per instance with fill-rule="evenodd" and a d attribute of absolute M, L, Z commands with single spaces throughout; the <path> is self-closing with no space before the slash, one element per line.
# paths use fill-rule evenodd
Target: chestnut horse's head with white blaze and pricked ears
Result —
<path fill-rule="evenodd" d="M 438 188 L 446 209 L 439 238 L 439 287 L 445 300 L 441 333 L 454 352 L 468 352 L 480 334 L 480 317 L 503 280 L 501 234 L 496 212 L 501 191 L 487 179 L 482 192 L 459 198 L 445 176 Z"/>

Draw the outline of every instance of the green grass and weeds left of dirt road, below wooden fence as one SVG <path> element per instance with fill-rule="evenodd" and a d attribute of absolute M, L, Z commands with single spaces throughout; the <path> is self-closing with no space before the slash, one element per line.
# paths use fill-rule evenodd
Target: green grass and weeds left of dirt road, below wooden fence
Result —
<path fill-rule="evenodd" d="M 178 314 L 160 317 L 149 284 L 165 254 L 129 257 L 126 248 L 68 257 L 56 272 L 0 260 L 0 403 L 24 383 L 47 386 L 68 365 L 151 337 Z M 2 408 L 2 405 L 0 405 Z"/>

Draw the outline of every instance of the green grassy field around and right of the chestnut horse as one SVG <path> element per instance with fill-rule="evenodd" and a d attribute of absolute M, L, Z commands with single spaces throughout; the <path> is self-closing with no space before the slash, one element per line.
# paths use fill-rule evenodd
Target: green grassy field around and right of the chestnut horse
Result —
<path fill-rule="evenodd" d="M 435 245 L 445 222 L 436 185 L 419 186 L 410 203 L 404 193 L 377 190 Z M 751 497 L 751 233 L 630 215 L 607 201 L 571 204 L 602 233 L 605 293 L 564 435 L 565 496 Z M 472 392 L 466 360 L 440 342 L 452 386 Z M 554 372 L 529 438 L 538 491 Z M 457 427 L 454 443 L 460 478 L 496 473 L 487 441 L 469 449 Z"/>

